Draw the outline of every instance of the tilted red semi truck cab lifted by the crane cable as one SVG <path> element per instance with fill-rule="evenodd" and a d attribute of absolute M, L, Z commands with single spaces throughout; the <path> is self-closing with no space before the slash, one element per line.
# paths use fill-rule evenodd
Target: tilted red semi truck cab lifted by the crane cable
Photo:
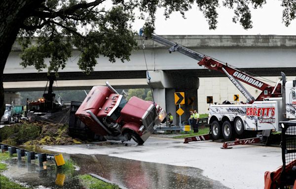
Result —
<path fill-rule="evenodd" d="M 124 142 L 133 138 L 138 144 L 143 144 L 165 121 L 165 111 L 158 104 L 136 96 L 127 101 L 108 82 L 106 85 L 94 86 L 75 116 L 107 140 Z"/>

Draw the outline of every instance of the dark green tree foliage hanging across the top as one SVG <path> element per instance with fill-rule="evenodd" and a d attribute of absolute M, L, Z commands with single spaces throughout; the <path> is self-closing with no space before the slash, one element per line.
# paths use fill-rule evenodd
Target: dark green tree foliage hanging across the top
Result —
<path fill-rule="evenodd" d="M 100 56 L 129 61 L 131 51 L 137 47 L 136 33 L 131 23 L 138 17 L 146 20 L 144 33 L 154 31 L 155 13 L 164 8 L 166 18 L 178 11 L 185 12 L 197 6 L 208 21 L 210 29 L 217 27 L 219 0 L 42 0 L 21 25 L 19 42 L 24 67 L 35 66 L 38 71 L 58 72 L 66 66 L 72 48 L 80 51 L 78 66 L 89 73 L 94 70 Z M 110 8 L 106 8 L 108 3 Z M 250 7 L 258 8 L 266 0 L 223 0 L 222 5 L 234 10 L 232 21 L 244 29 L 252 28 Z M 295 1 L 282 0 L 283 20 L 289 26 L 295 19 Z M 32 37 L 38 36 L 32 43 Z M 49 64 L 44 59 L 49 58 Z"/>

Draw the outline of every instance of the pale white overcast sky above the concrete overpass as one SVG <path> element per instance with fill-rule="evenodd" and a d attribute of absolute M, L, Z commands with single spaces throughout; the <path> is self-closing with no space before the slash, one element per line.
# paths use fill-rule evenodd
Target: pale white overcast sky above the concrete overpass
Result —
<path fill-rule="evenodd" d="M 185 13 L 183 19 L 178 12 L 173 13 L 170 19 L 165 20 L 163 9 L 156 13 L 155 33 L 158 35 L 296 35 L 296 20 L 289 27 L 282 23 L 283 7 L 281 0 L 267 0 L 262 8 L 251 8 L 253 28 L 244 30 L 242 26 L 232 22 L 233 10 L 222 6 L 219 0 L 218 25 L 216 30 L 209 30 L 209 25 L 201 11 L 194 5 Z M 144 21 L 136 20 L 133 29 L 139 31 Z"/>

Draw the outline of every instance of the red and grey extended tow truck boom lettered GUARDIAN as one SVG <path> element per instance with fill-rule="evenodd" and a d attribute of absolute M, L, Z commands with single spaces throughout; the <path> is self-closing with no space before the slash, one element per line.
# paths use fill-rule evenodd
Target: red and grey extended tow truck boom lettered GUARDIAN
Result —
<path fill-rule="evenodd" d="M 142 35 L 142 32 L 140 30 L 140 35 Z M 279 82 L 275 87 L 271 87 L 270 85 L 262 81 L 259 81 L 255 77 L 252 77 L 245 72 L 241 72 L 240 70 L 229 66 L 227 63 L 222 63 L 221 61 L 218 61 L 205 54 L 192 51 L 178 43 L 165 39 L 164 37 L 152 34 L 151 39 L 160 44 L 170 47 L 169 48 L 170 53 L 174 51 L 178 51 L 192 59 L 199 61 L 198 65 L 200 66 L 204 65 L 210 70 L 217 70 L 222 73 L 225 73 L 227 77 L 230 79 L 230 81 L 235 85 L 235 87 L 247 98 L 249 103 L 252 103 L 255 100 L 263 100 L 263 98 L 265 97 L 281 96 L 281 84 L 279 84 Z M 255 99 L 238 80 L 261 90 L 262 93 L 257 97 L 257 99 Z"/>

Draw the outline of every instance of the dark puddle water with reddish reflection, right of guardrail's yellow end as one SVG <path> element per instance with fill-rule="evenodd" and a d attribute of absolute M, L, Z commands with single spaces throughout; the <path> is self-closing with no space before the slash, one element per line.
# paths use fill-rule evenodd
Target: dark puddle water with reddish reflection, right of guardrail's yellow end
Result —
<path fill-rule="evenodd" d="M 71 155 L 80 174 L 95 173 L 128 189 L 227 189 L 192 167 L 151 163 L 105 155 Z"/>

